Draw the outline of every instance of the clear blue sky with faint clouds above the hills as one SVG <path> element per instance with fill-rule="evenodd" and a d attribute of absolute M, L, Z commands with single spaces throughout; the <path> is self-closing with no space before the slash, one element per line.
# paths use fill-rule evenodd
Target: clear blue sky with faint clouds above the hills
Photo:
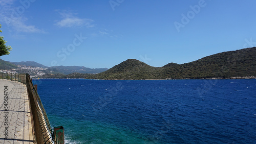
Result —
<path fill-rule="evenodd" d="M 0 0 L 6 61 L 152 66 L 256 46 L 256 1 Z"/>

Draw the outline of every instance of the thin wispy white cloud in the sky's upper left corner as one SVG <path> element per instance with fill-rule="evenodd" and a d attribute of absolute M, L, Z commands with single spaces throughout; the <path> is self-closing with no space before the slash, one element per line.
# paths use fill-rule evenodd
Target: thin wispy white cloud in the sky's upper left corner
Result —
<path fill-rule="evenodd" d="M 24 12 L 15 11 L 17 7 L 13 6 L 14 2 L 14 0 L 0 0 L 0 22 L 6 23 L 8 27 L 11 27 L 17 32 L 45 33 L 45 31 L 36 28 L 36 26 L 28 25 Z M 28 7 L 25 8 L 22 4 L 19 4 L 19 7 L 23 7 L 24 11 L 28 9 Z"/>

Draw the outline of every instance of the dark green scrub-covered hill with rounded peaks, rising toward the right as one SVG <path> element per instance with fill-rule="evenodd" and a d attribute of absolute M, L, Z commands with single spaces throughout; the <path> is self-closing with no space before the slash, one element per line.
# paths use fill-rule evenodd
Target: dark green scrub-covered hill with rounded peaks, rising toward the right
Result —
<path fill-rule="evenodd" d="M 256 47 L 218 53 L 197 61 L 153 67 L 128 59 L 90 79 L 206 79 L 256 77 Z"/>

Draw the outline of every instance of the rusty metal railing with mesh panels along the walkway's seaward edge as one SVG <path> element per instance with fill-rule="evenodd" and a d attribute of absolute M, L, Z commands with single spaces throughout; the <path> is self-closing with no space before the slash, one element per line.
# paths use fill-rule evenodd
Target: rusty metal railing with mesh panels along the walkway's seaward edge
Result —
<path fill-rule="evenodd" d="M 17 81 L 27 85 L 29 96 L 29 103 L 31 108 L 31 119 L 33 133 L 35 134 L 36 143 L 64 143 L 64 129 L 63 127 L 56 127 L 54 130 L 50 126 L 48 116 L 45 108 L 41 103 L 40 97 L 37 93 L 37 88 L 32 83 L 29 74 L 5 74 L 0 73 L 0 79 L 7 79 Z M 57 134 L 54 133 L 57 131 Z"/>

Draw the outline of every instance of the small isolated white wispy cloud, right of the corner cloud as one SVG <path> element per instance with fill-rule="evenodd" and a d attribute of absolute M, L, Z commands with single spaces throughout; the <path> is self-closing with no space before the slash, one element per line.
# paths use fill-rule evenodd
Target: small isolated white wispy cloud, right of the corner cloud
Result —
<path fill-rule="evenodd" d="M 86 27 L 86 28 L 92 28 L 93 20 L 89 18 L 79 18 L 75 15 L 76 13 L 72 13 L 69 11 L 59 11 L 57 12 L 61 15 L 61 20 L 57 21 L 55 25 L 59 27 Z"/>

